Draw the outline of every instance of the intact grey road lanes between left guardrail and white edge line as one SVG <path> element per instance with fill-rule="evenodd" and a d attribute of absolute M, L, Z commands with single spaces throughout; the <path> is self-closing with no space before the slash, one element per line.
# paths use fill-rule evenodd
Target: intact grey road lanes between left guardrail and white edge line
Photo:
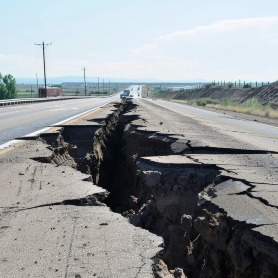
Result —
<path fill-rule="evenodd" d="M 115 99 L 119 99 L 119 94 L 99 99 L 69 99 L 3 106 L 0 108 L 0 145 L 96 109 Z"/>

